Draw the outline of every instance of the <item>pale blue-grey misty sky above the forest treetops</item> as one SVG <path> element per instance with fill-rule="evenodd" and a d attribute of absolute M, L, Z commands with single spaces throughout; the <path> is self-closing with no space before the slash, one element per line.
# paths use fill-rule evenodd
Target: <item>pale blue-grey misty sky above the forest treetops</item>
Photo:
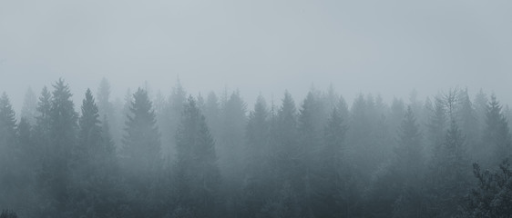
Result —
<path fill-rule="evenodd" d="M 512 102 L 510 1 L 0 0 L 0 91 L 64 77 L 75 96 L 106 76 L 123 96 L 240 88 L 300 100 L 333 84 L 385 100 L 458 85 Z M 76 102 L 76 104 L 78 104 Z"/>

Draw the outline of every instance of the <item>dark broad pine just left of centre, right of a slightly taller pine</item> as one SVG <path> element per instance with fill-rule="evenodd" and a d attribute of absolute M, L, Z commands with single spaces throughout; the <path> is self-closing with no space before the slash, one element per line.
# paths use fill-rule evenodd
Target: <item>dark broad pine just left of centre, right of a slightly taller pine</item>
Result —
<path fill-rule="evenodd" d="M 216 217 L 220 172 L 215 143 L 191 96 L 188 102 L 176 134 L 177 201 L 179 208 L 196 217 Z"/>

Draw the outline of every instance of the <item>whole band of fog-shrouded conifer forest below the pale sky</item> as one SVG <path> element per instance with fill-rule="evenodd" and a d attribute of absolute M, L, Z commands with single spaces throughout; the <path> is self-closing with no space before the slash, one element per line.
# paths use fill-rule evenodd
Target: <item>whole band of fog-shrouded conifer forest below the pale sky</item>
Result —
<path fill-rule="evenodd" d="M 0 97 L 0 209 L 20 217 L 508 217 L 511 135 L 496 96 L 452 89 L 349 105 L 329 88 L 296 104 L 84 95 L 59 79 Z M 490 170 L 482 170 L 490 169 Z M 5 211 L 2 217 L 16 217 Z"/>

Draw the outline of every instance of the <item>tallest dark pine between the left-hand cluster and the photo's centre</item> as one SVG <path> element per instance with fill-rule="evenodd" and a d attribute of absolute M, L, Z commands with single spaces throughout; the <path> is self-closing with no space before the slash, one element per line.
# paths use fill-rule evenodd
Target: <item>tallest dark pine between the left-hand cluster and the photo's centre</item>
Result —
<path fill-rule="evenodd" d="M 129 114 L 120 164 L 125 175 L 131 216 L 155 215 L 150 208 L 156 202 L 159 172 L 161 170 L 160 134 L 156 115 L 145 90 L 138 88 L 129 105 Z"/>

